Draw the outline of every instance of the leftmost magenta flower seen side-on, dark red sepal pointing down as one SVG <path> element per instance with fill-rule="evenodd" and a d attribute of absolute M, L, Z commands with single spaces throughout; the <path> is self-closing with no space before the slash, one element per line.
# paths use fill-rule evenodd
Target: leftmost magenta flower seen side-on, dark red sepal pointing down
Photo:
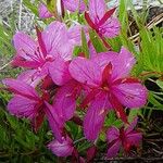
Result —
<path fill-rule="evenodd" d="M 17 117 L 28 118 L 37 131 L 45 117 L 43 101 L 49 100 L 48 93 L 45 92 L 39 97 L 34 87 L 18 79 L 4 79 L 3 84 L 14 93 L 8 103 L 9 112 Z"/>

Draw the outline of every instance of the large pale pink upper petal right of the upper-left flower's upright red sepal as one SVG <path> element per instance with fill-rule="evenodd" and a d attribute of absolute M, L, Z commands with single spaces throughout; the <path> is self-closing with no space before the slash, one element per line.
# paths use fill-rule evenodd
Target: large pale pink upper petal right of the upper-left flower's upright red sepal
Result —
<path fill-rule="evenodd" d="M 72 58 L 73 46 L 68 39 L 68 33 L 65 24 L 60 22 L 51 23 L 45 32 L 42 39 L 48 54 L 57 58 L 61 57 L 65 60 Z"/>

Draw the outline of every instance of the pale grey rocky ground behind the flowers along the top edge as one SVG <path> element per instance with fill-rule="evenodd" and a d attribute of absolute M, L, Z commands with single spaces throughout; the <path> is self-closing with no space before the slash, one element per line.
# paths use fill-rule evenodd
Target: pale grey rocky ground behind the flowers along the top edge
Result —
<path fill-rule="evenodd" d="M 30 1 L 34 2 L 35 0 Z M 120 0 L 106 1 L 109 8 L 117 7 L 120 3 Z M 163 0 L 133 0 L 133 3 L 135 8 L 139 10 L 143 7 L 143 4 L 148 4 L 149 7 L 161 7 L 163 5 Z M 9 21 L 13 15 L 16 30 L 30 33 L 35 15 L 25 8 L 23 0 L 0 0 L 0 23 L 3 23 L 5 26 L 10 26 Z"/>

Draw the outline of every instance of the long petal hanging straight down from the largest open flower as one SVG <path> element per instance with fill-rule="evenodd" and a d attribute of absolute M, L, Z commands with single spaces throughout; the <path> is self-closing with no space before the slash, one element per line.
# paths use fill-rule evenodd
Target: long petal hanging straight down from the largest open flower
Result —
<path fill-rule="evenodd" d="M 90 103 L 84 118 L 84 133 L 88 140 L 95 141 L 103 126 L 108 109 L 108 98 L 104 93 L 99 93 Z"/>

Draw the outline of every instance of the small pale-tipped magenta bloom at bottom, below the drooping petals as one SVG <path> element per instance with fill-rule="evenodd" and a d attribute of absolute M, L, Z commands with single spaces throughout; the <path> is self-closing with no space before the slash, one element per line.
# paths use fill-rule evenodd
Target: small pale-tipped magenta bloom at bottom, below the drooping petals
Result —
<path fill-rule="evenodd" d="M 62 143 L 54 139 L 48 145 L 48 148 L 58 156 L 72 155 L 74 150 L 73 140 L 67 136 Z"/>

